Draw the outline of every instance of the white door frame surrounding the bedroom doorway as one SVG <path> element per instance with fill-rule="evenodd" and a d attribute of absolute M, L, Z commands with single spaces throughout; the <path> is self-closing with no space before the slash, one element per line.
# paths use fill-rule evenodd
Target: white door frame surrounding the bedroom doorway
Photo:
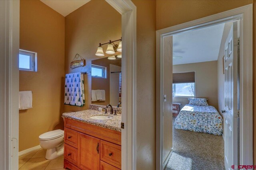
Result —
<path fill-rule="evenodd" d="M 240 19 L 240 164 L 253 164 L 253 5 L 156 31 L 156 169 L 163 163 L 163 38 Z M 170 157 L 169 157 L 170 158 Z"/>

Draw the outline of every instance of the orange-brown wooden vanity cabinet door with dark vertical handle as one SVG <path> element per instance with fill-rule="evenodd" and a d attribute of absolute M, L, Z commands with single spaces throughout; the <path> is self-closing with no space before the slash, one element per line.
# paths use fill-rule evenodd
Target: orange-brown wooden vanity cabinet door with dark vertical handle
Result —
<path fill-rule="evenodd" d="M 100 170 L 100 139 L 78 134 L 78 167 L 86 170 Z"/>

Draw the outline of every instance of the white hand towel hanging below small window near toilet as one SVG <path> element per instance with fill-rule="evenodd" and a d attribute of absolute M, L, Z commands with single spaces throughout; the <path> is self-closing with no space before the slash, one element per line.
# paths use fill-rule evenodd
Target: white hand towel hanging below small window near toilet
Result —
<path fill-rule="evenodd" d="M 19 92 L 19 98 L 20 98 L 19 110 L 32 108 L 32 91 Z"/>

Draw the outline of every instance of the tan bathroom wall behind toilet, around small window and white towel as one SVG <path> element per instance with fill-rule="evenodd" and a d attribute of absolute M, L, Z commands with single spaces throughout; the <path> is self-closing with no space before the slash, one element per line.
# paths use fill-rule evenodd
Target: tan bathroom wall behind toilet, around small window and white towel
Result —
<path fill-rule="evenodd" d="M 37 53 L 38 72 L 20 71 L 20 91 L 32 90 L 33 108 L 19 113 L 19 151 L 63 129 L 64 21 L 39 0 L 20 1 L 20 49 Z"/>

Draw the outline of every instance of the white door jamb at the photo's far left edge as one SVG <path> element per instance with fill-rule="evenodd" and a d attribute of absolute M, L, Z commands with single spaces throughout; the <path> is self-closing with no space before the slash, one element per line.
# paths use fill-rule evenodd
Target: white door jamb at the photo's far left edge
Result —
<path fill-rule="evenodd" d="M 0 1 L 0 169 L 18 169 L 20 1 Z"/>

